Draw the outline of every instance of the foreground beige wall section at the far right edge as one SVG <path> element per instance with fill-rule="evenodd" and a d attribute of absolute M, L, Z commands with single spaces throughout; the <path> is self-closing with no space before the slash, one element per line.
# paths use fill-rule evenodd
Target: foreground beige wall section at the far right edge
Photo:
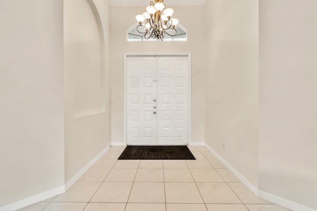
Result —
<path fill-rule="evenodd" d="M 314 209 L 316 8 L 316 0 L 260 0 L 259 187 Z"/>

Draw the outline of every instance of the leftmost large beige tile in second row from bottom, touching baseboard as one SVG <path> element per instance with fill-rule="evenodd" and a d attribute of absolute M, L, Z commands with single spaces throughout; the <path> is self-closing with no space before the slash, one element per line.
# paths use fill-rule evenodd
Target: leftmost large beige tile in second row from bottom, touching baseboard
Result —
<path fill-rule="evenodd" d="M 75 182 L 66 193 L 58 195 L 53 202 L 89 202 L 101 182 Z"/>

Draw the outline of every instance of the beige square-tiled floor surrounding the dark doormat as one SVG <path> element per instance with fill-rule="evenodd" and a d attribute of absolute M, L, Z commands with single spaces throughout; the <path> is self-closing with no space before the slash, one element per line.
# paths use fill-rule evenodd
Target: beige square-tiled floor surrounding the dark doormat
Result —
<path fill-rule="evenodd" d="M 113 146 L 66 193 L 19 211 L 289 211 L 256 197 L 206 147 L 196 161 L 117 160 Z"/>

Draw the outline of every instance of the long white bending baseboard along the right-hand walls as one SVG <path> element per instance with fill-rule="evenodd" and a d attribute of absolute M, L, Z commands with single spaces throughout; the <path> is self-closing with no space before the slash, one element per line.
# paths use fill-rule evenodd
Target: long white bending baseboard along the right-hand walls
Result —
<path fill-rule="evenodd" d="M 222 158 L 218 153 L 216 153 L 216 151 L 214 151 L 208 144 L 205 144 L 205 146 L 224 166 L 226 166 L 234 175 L 236 175 L 236 177 L 238 177 L 259 198 L 264 199 L 268 202 L 274 203 L 276 205 L 285 207 L 292 211 L 317 211 L 312 208 L 306 207 L 304 205 L 298 204 L 296 202 L 259 190 L 246 177 L 244 177 L 237 169 L 231 166 L 224 158 Z"/>

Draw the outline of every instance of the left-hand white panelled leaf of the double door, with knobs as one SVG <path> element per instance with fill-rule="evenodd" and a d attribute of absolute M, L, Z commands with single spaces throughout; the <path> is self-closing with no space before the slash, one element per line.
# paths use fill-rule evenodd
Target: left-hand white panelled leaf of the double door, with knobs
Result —
<path fill-rule="evenodd" d="M 129 144 L 156 144 L 156 57 L 127 57 L 127 138 Z"/>

